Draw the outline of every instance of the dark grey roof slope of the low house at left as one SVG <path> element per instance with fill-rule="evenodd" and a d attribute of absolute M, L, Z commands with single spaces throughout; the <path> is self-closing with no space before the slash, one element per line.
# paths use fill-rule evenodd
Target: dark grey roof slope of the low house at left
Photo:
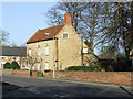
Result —
<path fill-rule="evenodd" d="M 27 47 L 24 46 L 0 46 L 0 56 L 27 56 Z"/>

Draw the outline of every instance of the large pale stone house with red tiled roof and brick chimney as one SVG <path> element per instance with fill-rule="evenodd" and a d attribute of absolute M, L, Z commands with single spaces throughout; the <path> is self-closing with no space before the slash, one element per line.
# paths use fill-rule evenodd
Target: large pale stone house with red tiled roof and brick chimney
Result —
<path fill-rule="evenodd" d="M 38 57 L 37 70 L 63 70 L 69 66 L 89 66 L 89 46 L 82 41 L 72 26 L 70 13 L 64 14 L 64 23 L 44 30 L 38 30 L 27 41 L 27 54 Z M 93 56 L 92 56 L 93 57 Z M 54 59 L 54 61 L 53 61 Z"/>

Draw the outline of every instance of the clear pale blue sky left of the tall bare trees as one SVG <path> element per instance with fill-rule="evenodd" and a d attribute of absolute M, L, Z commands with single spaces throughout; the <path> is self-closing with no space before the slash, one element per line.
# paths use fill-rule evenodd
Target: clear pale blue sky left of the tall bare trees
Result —
<path fill-rule="evenodd" d="M 9 44 L 24 44 L 39 29 L 45 29 L 44 13 L 57 2 L 2 2 L 2 30 Z"/>

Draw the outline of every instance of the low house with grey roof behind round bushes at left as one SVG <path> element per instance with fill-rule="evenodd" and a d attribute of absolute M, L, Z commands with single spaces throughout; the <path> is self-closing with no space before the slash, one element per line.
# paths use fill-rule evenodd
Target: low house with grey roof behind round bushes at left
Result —
<path fill-rule="evenodd" d="M 27 47 L 24 46 L 6 46 L 0 42 L 0 68 L 3 68 L 3 65 L 9 62 L 12 63 L 16 61 L 20 68 L 25 68 L 27 66 Z"/>

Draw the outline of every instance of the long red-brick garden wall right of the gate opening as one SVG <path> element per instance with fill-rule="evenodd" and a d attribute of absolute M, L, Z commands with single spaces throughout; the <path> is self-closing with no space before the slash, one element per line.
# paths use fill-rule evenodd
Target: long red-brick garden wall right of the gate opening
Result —
<path fill-rule="evenodd" d="M 44 77 L 52 78 L 53 72 L 45 73 Z M 131 85 L 133 72 L 55 72 L 55 78 Z"/>

